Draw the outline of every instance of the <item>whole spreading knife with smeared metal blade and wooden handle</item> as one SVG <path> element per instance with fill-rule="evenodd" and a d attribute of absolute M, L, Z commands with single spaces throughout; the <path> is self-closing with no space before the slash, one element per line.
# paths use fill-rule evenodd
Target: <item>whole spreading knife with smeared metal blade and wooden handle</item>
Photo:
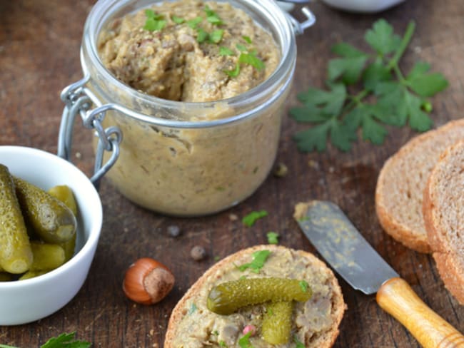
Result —
<path fill-rule="evenodd" d="M 378 305 L 425 348 L 464 347 L 464 336 L 420 300 L 363 238 L 338 205 L 298 203 L 293 217 L 321 256 L 354 289 L 377 293 Z"/>

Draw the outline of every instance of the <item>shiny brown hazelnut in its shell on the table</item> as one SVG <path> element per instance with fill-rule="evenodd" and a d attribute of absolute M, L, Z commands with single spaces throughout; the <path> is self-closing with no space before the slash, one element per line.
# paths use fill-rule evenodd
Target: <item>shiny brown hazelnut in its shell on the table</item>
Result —
<path fill-rule="evenodd" d="M 168 267 L 149 257 L 134 262 L 126 271 L 123 292 L 134 302 L 152 305 L 172 290 L 174 276 Z"/>

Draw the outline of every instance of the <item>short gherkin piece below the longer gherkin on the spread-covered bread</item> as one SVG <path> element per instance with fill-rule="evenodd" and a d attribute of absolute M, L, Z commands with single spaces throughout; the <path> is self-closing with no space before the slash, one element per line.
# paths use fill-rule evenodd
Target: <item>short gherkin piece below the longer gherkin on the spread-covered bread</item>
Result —
<path fill-rule="evenodd" d="M 270 302 L 266 306 L 261 335 L 270 344 L 285 344 L 290 339 L 293 301 Z"/>

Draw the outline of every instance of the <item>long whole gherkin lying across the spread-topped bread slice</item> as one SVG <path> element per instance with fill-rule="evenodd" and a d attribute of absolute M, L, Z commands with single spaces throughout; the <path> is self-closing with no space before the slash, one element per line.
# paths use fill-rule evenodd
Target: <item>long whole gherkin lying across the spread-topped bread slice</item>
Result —
<path fill-rule="evenodd" d="M 307 301 L 310 298 L 311 289 L 302 287 L 300 280 L 277 277 L 245 278 L 213 287 L 208 295 L 207 307 L 217 314 L 232 314 L 248 305 L 268 301 Z"/>

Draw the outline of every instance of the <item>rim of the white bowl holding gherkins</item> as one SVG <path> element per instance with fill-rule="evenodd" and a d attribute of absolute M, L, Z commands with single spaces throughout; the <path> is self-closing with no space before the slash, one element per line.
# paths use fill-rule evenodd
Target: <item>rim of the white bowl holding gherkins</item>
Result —
<path fill-rule="evenodd" d="M 99 242 L 99 237 L 101 233 L 101 226 L 103 223 L 103 208 L 101 205 L 101 199 L 99 193 L 96 191 L 96 188 L 94 185 L 91 183 L 89 178 L 79 169 L 77 168 L 74 164 L 70 163 L 69 161 L 65 160 L 64 158 L 59 157 L 58 155 L 55 155 L 54 153 L 49 153 L 45 150 L 40 150 L 37 148 L 29 148 L 26 146 L 16 146 L 16 145 L 0 145 L 0 153 L 17 153 L 18 155 L 24 154 L 24 153 L 31 153 L 31 155 L 36 155 L 38 157 L 42 158 L 54 158 L 54 160 L 59 163 L 59 165 L 62 165 L 64 168 L 67 170 L 73 170 L 76 172 L 76 175 L 80 176 L 82 178 L 83 183 L 88 182 L 89 185 L 91 185 L 91 195 L 93 198 L 99 201 L 99 211 L 96 212 L 95 219 L 96 221 L 92 224 L 93 228 L 89 232 L 89 238 L 84 242 L 84 245 L 81 247 L 81 250 L 77 252 L 71 259 L 67 262 L 65 262 L 63 265 L 60 267 L 51 270 L 50 272 L 46 272 L 44 275 L 39 275 L 37 277 L 29 278 L 26 280 L 14 280 L 10 282 L 0 282 L 0 289 L 6 290 L 6 289 L 16 289 L 17 287 L 25 287 L 27 285 L 34 285 L 39 282 L 44 282 L 46 280 L 49 280 L 53 277 L 56 277 L 56 275 L 59 275 L 60 273 L 66 273 L 76 265 L 76 263 L 81 262 L 81 260 L 86 257 L 91 252 L 92 245 L 96 245 Z"/>

